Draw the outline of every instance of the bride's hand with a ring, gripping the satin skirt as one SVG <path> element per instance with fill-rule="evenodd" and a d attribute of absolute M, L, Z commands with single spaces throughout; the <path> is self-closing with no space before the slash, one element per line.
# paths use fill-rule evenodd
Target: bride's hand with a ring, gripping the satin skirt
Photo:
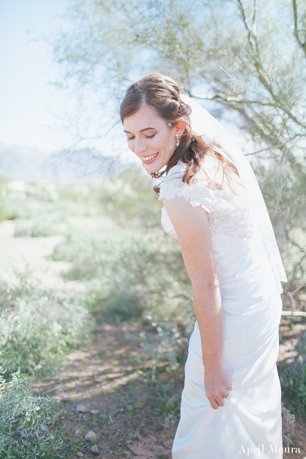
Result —
<path fill-rule="evenodd" d="M 224 405 L 224 398 L 228 396 L 228 391 L 233 390 L 233 384 L 224 366 L 205 369 L 204 387 L 206 397 L 213 409 L 218 409 Z"/>

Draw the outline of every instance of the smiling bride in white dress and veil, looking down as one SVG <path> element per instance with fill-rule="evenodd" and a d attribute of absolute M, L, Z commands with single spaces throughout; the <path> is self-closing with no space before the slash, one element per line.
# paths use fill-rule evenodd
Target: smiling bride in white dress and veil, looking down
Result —
<path fill-rule="evenodd" d="M 276 358 L 286 276 L 250 164 L 167 76 L 132 84 L 120 115 L 129 149 L 165 176 L 161 223 L 193 286 L 197 320 L 172 457 L 282 458 Z"/>

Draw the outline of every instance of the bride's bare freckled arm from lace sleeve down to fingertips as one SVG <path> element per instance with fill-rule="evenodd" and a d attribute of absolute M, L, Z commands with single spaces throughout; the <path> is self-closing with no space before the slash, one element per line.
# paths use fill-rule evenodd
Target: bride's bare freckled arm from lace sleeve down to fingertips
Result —
<path fill-rule="evenodd" d="M 224 405 L 232 382 L 223 364 L 223 309 L 208 218 L 202 207 L 192 207 L 184 197 L 163 199 L 178 236 L 185 266 L 193 287 L 198 320 L 205 392 L 212 408 Z"/>

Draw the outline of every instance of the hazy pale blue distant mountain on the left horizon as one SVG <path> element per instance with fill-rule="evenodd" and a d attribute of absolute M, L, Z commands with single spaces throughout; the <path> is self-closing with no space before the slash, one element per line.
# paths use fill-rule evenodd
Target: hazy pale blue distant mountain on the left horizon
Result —
<path fill-rule="evenodd" d="M 88 171 L 99 169 L 100 161 L 95 159 L 88 167 L 86 152 L 79 153 L 77 163 L 60 161 L 59 157 L 47 156 L 38 150 L 0 144 L 0 175 L 10 180 L 23 182 L 93 182 L 97 174 Z M 92 161 L 93 162 L 93 161 Z M 85 164 L 86 163 L 86 164 Z"/>

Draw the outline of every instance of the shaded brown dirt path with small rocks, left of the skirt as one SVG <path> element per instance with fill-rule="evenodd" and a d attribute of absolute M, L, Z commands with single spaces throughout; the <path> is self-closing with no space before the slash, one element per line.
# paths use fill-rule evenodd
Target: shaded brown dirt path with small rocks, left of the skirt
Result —
<path fill-rule="evenodd" d="M 156 409 L 162 410 L 165 387 L 182 387 L 183 375 L 169 377 L 160 369 L 153 383 L 150 365 L 135 364 L 137 356 L 122 327 L 108 325 L 87 350 L 70 354 L 54 377 L 33 378 L 34 393 L 55 395 L 61 405 L 58 427 L 67 429 L 68 458 L 94 456 L 92 445 L 100 458 L 171 457 L 176 427 L 165 428 Z M 84 438 L 90 431 L 96 435 L 91 443 Z"/>

